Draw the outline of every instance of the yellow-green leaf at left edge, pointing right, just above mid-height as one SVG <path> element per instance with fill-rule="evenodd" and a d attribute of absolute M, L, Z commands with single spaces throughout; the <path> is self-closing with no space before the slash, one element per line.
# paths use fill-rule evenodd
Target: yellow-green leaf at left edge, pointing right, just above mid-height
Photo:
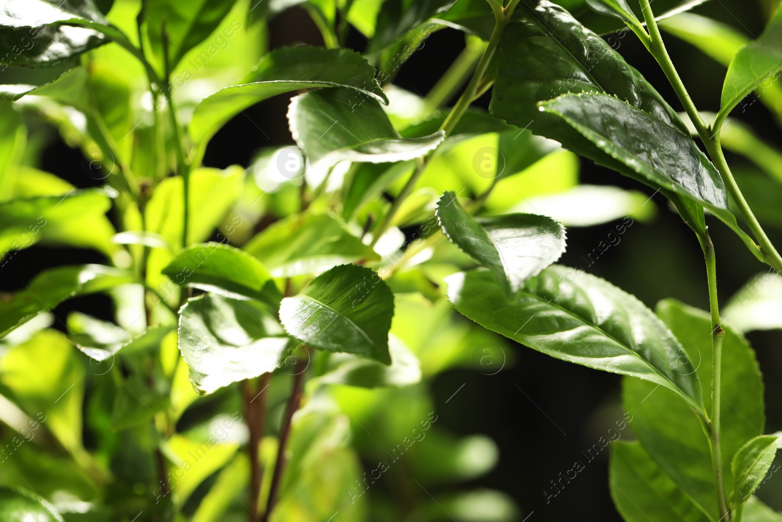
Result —
<path fill-rule="evenodd" d="M 0 256 L 9 260 L 35 243 L 92 247 L 110 255 L 111 202 L 101 189 L 72 189 L 65 196 L 37 196 L 0 203 Z"/>

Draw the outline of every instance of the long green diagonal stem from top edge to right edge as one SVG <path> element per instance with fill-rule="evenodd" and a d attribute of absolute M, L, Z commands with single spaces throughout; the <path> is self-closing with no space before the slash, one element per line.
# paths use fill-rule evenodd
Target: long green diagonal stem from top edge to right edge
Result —
<path fill-rule="evenodd" d="M 752 213 L 747 201 L 744 200 L 744 195 L 741 193 L 733 174 L 730 172 L 725 156 L 723 155 L 723 149 L 719 142 L 719 133 L 713 132 L 708 127 L 701 114 L 698 113 L 698 109 L 695 107 L 687 88 L 684 87 L 679 74 L 676 72 L 676 67 L 673 67 L 673 62 L 665 49 L 665 44 L 662 41 L 662 35 L 657 27 L 655 16 L 651 13 L 651 7 L 649 6 L 649 0 L 641 0 L 642 9 L 644 11 L 644 19 L 646 20 L 647 27 L 649 29 L 649 35 L 651 36 L 651 44 L 648 46 L 651 55 L 655 57 L 657 63 L 660 64 L 662 71 L 665 73 L 665 77 L 668 78 L 673 90 L 676 92 L 680 102 L 684 106 L 684 110 L 687 111 L 687 116 L 690 117 L 695 129 L 698 131 L 698 135 L 701 137 L 701 141 L 704 143 L 708 155 L 712 158 L 714 166 L 719 171 L 719 175 L 725 182 L 726 189 L 734 202 L 738 207 L 738 214 L 748 225 L 752 235 L 755 236 L 755 241 L 759 243 L 759 249 L 762 257 L 766 263 L 774 268 L 777 272 L 782 271 L 782 257 L 777 252 L 777 249 L 773 247 L 773 244 L 766 236 L 766 232 L 763 231 L 760 223 L 755 214 Z"/>

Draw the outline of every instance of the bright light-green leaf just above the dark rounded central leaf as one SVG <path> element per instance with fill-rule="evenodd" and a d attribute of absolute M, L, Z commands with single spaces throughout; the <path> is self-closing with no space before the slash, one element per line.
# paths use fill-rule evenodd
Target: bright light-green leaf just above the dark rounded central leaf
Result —
<path fill-rule="evenodd" d="M 323 272 L 378 254 L 329 214 L 295 214 L 278 221 L 245 245 L 274 277 Z"/>

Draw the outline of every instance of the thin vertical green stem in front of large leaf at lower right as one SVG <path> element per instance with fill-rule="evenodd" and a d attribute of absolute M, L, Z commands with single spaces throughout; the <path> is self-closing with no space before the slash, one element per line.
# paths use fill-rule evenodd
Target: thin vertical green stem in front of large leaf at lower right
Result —
<path fill-rule="evenodd" d="M 723 473 L 723 457 L 720 441 L 720 402 L 722 398 L 722 365 L 723 365 L 723 336 L 725 331 L 719 321 L 719 301 L 717 301 L 717 268 L 714 245 L 708 236 L 698 236 L 706 261 L 706 275 L 708 277 L 708 305 L 712 312 L 712 420 L 709 434 L 712 446 L 712 466 L 714 469 L 714 481 L 717 487 L 717 505 L 719 506 L 719 520 L 730 520 L 730 512 L 725 496 L 725 481 Z"/>

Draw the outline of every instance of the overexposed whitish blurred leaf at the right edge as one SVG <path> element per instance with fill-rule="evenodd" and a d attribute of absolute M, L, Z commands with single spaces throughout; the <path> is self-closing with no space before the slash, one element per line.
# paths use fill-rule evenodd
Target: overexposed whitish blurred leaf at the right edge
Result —
<path fill-rule="evenodd" d="M 782 276 L 755 274 L 723 308 L 725 322 L 740 332 L 782 329 Z"/>

